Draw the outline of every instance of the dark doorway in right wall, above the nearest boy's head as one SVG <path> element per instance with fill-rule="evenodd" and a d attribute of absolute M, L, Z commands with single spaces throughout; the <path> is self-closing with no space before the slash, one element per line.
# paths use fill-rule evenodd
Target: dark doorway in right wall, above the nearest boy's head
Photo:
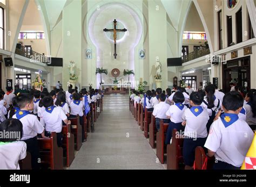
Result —
<path fill-rule="evenodd" d="M 250 56 L 227 61 L 223 64 L 223 90 L 230 91 L 230 83 L 244 87 L 249 91 L 251 88 Z"/>

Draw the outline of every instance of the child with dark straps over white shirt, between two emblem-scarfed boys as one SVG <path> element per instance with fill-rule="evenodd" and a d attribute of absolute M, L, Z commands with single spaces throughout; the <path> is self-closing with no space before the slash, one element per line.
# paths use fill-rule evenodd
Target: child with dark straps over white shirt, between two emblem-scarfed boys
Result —
<path fill-rule="evenodd" d="M 213 120 L 221 107 L 221 101 L 214 96 L 214 93 L 215 93 L 214 85 L 212 84 L 207 85 L 205 87 L 205 93 L 206 93 L 206 96 L 201 106 L 203 107 L 203 109 L 207 110 L 208 115 L 210 117 L 207 122 L 207 132 L 209 132 L 210 126 L 212 125 Z"/>

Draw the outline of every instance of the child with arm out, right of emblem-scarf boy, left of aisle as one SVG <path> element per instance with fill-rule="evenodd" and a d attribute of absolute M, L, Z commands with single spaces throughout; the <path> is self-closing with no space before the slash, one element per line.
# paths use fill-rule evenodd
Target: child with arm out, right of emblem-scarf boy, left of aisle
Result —
<path fill-rule="evenodd" d="M 45 126 L 45 136 L 51 137 L 52 132 L 57 134 L 57 145 L 62 147 L 62 121 L 64 124 L 71 124 L 66 117 L 65 112 L 61 107 L 56 107 L 53 104 L 53 99 L 50 96 L 42 99 L 42 104 L 45 111 L 42 113 L 40 123 Z"/>

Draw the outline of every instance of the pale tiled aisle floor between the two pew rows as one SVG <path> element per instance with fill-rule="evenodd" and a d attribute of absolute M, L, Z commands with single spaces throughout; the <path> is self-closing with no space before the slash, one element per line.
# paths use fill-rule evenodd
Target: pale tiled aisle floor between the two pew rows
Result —
<path fill-rule="evenodd" d="M 70 169 L 164 169 L 129 111 L 129 97 L 103 100 L 95 132 L 89 133 Z"/>

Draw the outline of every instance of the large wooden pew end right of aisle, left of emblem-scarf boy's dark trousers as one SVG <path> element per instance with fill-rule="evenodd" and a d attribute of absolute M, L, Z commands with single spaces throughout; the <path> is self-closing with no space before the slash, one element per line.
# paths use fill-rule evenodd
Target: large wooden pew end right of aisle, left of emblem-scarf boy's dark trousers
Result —
<path fill-rule="evenodd" d="M 172 130 L 172 143 L 167 145 L 167 169 L 184 169 L 180 166 L 183 163 L 183 138 L 182 135 L 177 137 L 176 132 L 176 129 Z"/>

